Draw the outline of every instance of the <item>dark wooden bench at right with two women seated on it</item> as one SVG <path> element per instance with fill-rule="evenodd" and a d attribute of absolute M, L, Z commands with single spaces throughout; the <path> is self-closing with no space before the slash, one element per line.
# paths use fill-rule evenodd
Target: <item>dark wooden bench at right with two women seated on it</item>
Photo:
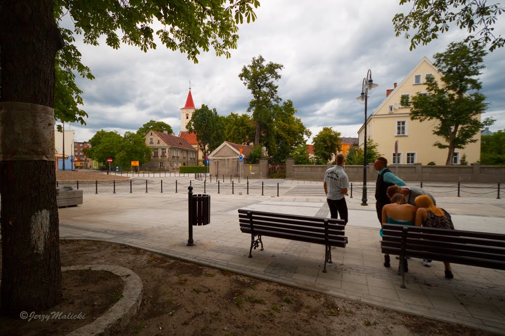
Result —
<path fill-rule="evenodd" d="M 505 234 L 383 224 L 382 253 L 505 270 Z M 401 288 L 405 270 L 400 262 Z"/>

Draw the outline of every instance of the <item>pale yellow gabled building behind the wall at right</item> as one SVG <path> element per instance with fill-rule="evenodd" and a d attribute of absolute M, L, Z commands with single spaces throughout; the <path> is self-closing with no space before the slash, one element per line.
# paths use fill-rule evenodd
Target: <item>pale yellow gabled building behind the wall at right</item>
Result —
<path fill-rule="evenodd" d="M 394 88 L 386 91 L 386 99 L 368 117 L 367 137 L 378 144 L 377 150 L 388 160 L 388 164 L 426 165 L 435 162 L 437 165 L 445 165 L 448 149 L 433 146 L 436 141 L 446 144 L 442 137 L 433 135 L 438 120 L 423 122 L 411 120 L 410 107 L 401 106 L 400 103 L 402 96 L 427 94 L 425 82 L 428 76 L 434 76 L 440 82 L 440 74 L 433 63 L 423 57 L 400 85 L 394 83 Z M 372 91 L 369 95 L 370 93 Z M 358 136 L 359 146 L 363 147 L 363 126 L 358 131 Z M 480 159 L 480 132 L 474 139 L 477 140 L 476 143 L 468 144 L 463 150 L 455 150 L 453 164 L 460 164 L 463 155 L 466 155 L 466 161 L 469 163 Z M 395 156 L 396 141 L 398 141 L 398 157 Z"/>

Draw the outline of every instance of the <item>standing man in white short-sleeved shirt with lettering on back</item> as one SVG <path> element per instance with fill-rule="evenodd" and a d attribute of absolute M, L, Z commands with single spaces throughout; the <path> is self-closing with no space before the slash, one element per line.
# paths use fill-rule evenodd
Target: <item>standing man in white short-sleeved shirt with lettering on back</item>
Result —
<path fill-rule="evenodd" d="M 328 207 L 330 207 L 331 218 L 338 219 L 338 214 L 340 214 L 340 219 L 347 224 L 347 203 L 345 203 L 344 195 L 347 194 L 349 178 L 343 167 L 344 155 L 337 154 L 335 161 L 336 166 L 327 169 L 324 173 L 324 193 L 326 194 Z"/>

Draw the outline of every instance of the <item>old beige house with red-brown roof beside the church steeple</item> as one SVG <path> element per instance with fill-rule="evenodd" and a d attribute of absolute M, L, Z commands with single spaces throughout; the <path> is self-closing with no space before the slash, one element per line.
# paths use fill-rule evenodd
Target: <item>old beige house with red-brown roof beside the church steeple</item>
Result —
<path fill-rule="evenodd" d="M 144 138 L 152 151 L 144 168 L 178 170 L 180 166 L 196 166 L 196 150 L 183 138 L 157 130 L 148 131 Z"/>

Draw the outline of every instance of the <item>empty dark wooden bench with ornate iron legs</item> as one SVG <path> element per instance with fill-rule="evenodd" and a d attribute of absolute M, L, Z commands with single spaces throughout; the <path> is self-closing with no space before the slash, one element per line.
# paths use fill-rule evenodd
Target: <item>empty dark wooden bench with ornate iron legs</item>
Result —
<path fill-rule="evenodd" d="M 260 250 L 263 251 L 262 236 L 322 244 L 326 247 L 323 270 L 326 273 L 326 262 L 331 263 L 331 247 L 345 247 L 347 244 L 347 237 L 344 236 L 345 222 L 340 219 L 245 209 L 238 210 L 238 218 L 240 231 L 251 235 L 249 258 L 252 258 L 252 249 L 258 248 L 260 244 Z"/>

